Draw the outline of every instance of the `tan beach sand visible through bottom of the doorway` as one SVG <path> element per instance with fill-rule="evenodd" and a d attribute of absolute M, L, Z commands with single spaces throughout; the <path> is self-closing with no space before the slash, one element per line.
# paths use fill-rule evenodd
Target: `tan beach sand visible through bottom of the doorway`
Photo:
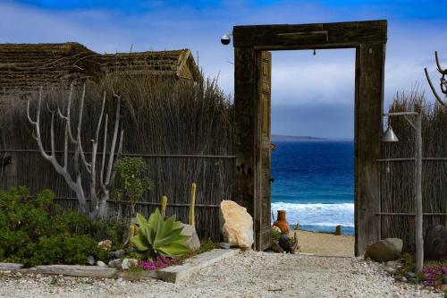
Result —
<path fill-rule="evenodd" d="M 318 256 L 353 257 L 355 238 L 352 235 L 314 233 L 308 231 L 291 231 L 291 235 L 298 232 L 300 252 L 313 253 Z"/>

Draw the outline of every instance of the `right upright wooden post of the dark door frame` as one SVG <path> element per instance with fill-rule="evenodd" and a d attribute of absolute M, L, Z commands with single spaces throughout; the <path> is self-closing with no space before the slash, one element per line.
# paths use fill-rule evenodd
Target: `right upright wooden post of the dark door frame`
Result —
<path fill-rule="evenodd" d="M 355 100 L 355 223 L 356 255 L 380 238 L 380 139 L 384 101 L 384 43 L 367 43 L 356 52 Z"/>

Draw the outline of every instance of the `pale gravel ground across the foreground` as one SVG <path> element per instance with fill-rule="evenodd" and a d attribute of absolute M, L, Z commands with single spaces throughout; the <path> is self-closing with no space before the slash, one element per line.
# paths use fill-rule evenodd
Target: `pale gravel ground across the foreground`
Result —
<path fill-rule="evenodd" d="M 0 297 L 443 297 L 393 281 L 375 264 L 246 251 L 173 285 L 0 273 Z"/>

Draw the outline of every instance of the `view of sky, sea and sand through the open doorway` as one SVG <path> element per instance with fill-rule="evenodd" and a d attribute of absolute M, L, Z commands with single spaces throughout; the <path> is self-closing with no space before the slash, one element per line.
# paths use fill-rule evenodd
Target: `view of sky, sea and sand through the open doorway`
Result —
<path fill-rule="evenodd" d="M 286 211 L 304 253 L 354 256 L 355 58 L 355 49 L 272 53 L 272 213 Z"/>

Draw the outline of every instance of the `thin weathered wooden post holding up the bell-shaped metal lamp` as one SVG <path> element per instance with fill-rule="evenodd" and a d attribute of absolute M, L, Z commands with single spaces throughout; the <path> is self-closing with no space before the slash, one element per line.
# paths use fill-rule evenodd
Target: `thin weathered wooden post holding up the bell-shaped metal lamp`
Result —
<path fill-rule="evenodd" d="M 415 106 L 415 110 L 417 106 Z M 416 273 L 424 266 L 424 238 L 422 232 L 422 115 L 420 110 L 416 115 L 416 160 L 415 160 L 415 200 L 416 200 Z"/>

